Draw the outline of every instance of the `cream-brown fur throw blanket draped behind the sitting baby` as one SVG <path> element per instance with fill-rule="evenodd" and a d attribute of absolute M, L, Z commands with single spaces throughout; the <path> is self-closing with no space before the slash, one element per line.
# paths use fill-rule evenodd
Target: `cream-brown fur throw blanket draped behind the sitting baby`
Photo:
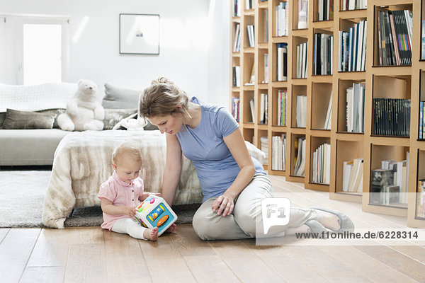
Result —
<path fill-rule="evenodd" d="M 64 228 L 72 209 L 100 206 L 98 189 L 113 173 L 111 156 L 123 141 L 136 141 L 142 151 L 140 178 L 147 192 L 161 192 L 165 168 L 166 141 L 159 131 L 86 131 L 67 134 L 55 151 L 52 175 L 47 187 L 42 223 Z M 261 163 L 262 151 L 246 142 L 249 152 Z M 191 161 L 182 156 L 179 189 L 174 204 L 201 203 L 198 175 Z"/>

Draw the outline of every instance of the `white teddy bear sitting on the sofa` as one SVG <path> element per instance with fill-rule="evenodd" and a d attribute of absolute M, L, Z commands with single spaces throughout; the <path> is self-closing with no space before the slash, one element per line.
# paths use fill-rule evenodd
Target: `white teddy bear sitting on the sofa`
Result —
<path fill-rule="evenodd" d="M 100 100 L 96 83 L 81 79 L 67 110 L 57 117 L 57 124 L 65 131 L 100 131 L 105 117 Z"/>

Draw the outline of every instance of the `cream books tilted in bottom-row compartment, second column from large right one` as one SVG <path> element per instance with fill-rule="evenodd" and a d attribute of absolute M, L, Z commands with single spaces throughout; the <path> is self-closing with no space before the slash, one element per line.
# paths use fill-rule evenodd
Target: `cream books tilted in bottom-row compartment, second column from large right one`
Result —
<path fill-rule="evenodd" d="M 363 158 L 344 161 L 342 174 L 343 192 L 363 192 Z"/>

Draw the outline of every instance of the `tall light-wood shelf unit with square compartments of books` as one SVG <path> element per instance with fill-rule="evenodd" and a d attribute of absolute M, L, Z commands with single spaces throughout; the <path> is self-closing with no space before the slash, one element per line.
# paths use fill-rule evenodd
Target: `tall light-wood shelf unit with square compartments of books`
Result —
<path fill-rule="evenodd" d="M 242 7 L 244 0 L 241 1 Z M 254 64 L 256 83 L 254 86 L 241 88 L 230 87 L 231 97 L 240 98 L 241 122 L 239 123 L 244 138 L 254 141 L 260 148 L 260 137 L 268 137 L 268 173 L 284 175 L 286 180 L 305 184 L 305 188 L 329 191 L 332 200 L 361 202 L 365 212 L 407 216 L 409 226 L 425 227 L 425 219 L 416 217 L 417 183 L 425 178 L 425 139 L 419 140 L 419 101 L 425 101 L 425 60 L 421 60 L 421 21 L 425 20 L 425 0 L 369 0 L 367 9 L 341 11 L 342 0 L 334 1 L 334 18 L 331 21 L 316 21 L 317 0 L 310 0 L 308 7 L 307 29 L 297 29 L 298 0 L 289 1 L 288 36 L 276 36 L 276 6 L 280 0 L 254 1 L 254 9 L 249 13 L 242 10 L 240 17 L 232 17 L 234 23 L 241 24 L 241 52 L 231 52 L 231 62 L 241 66 L 241 76 L 250 76 Z M 232 6 L 232 1 L 231 6 Z M 411 66 L 378 66 L 378 28 L 376 14 L 378 11 L 409 9 L 413 15 L 412 30 L 412 65 Z M 268 10 L 268 42 L 263 42 L 263 13 Z M 367 20 L 367 42 L 365 71 L 338 71 L 339 30 L 347 31 L 355 23 Z M 246 48 L 246 24 L 255 25 L 255 47 Z M 328 33 L 334 36 L 333 75 L 314 76 L 313 48 L 314 33 Z M 233 47 L 234 32 L 231 45 Z M 277 44 L 288 44 L 288 80 L 276 81 Z M 307 79 L 295 76 L 296 47 L 301 42 L 307 44 Z M 268 83 L 263 80 L 263 54 L 268 54 Z M 239 60 L 239 61 L 238 61 Z M 246 69 L 248 68 L 248 69 Z M 244 74 L 244 75 L 242 75 Z M 394 91 L 391 82 L 403 80 L 406 83 L 405 93 Z M 421 81 L 421 83 L 418 83 Z M 260 83 L 259 83 L 260 82 Z M 353 83 L 365 83 L 364 132 L 346 132 L 346 88 Z M 422 87 L 421 87 L 422 85 Z M 375 88 L 375 89 L 374 89 Z M 377 91 L 377 89 L 380 91 Z M 287 91 L 286 126 L 277 126 L 277 92 Z M 382 89 L 386 91 L 382 91 Z M 392 91 L 389 91 L 392 90 Z M 331 95 L 330 95 L 331 91 Z M 259 96 L 268 93 L 268 123 L 259 125 Z M 296 95 L 307 96 L 306 127 L 296 127 L 295 106 Z M 251 122 L 249 99 L 254 97 L 256 122 Z M 373 134 L 373 98 L 409 98 L 412 101 L 410 137 L 388 137 Z M 327 112 L 327 103 L 331 98 L 331 129 L 322 129 Z M 248 103 L 246 103 L 248 100 Z M 247 117 L 246 117 L 247 116 Z M 286 170 L 271 170 L 272 137 L 286 134 Z M 294 175 L 295 149 L 297 137 L 305 137 L 305 176 Z M 331 144 L 330 183 L 312 183 L 312 153 L 322 142 Z M 409 202 L 407 205 L 384 206 L 369 204 L 370 172 L 380 167 L 380 161 L 394 158 L 397 161 L 406 158 L 409 152 Z M 363 158 L 363 193 L 342 191 L 342 172 L 344 161 Z"/>

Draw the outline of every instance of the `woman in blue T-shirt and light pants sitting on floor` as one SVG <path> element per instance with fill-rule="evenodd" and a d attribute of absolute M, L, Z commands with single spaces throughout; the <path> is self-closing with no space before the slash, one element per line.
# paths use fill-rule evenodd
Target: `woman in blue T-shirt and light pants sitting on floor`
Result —
<path fill-rule="evenodd" d="M 162 197 L 173 204 L 181 173 L 181 154 L 192 161 L 203 191 L 203 204 L 193 216 L 193 229 L 203 240 L 263 236 L 261 199 L 273 197 L 263 167 L 252 158 L 232 115 L 205 105 L 165 78 L 152 81 L 139 104 L 140 115 L 166 133 L 166 174 Z M 258 227 L 256 229 L 256 227 Z M 286 226 L 266 236 L 326 229 L 353 229 L 344 214 L 291 208 Z M 309 230 L 310 229 L 310 230 Z"/>

